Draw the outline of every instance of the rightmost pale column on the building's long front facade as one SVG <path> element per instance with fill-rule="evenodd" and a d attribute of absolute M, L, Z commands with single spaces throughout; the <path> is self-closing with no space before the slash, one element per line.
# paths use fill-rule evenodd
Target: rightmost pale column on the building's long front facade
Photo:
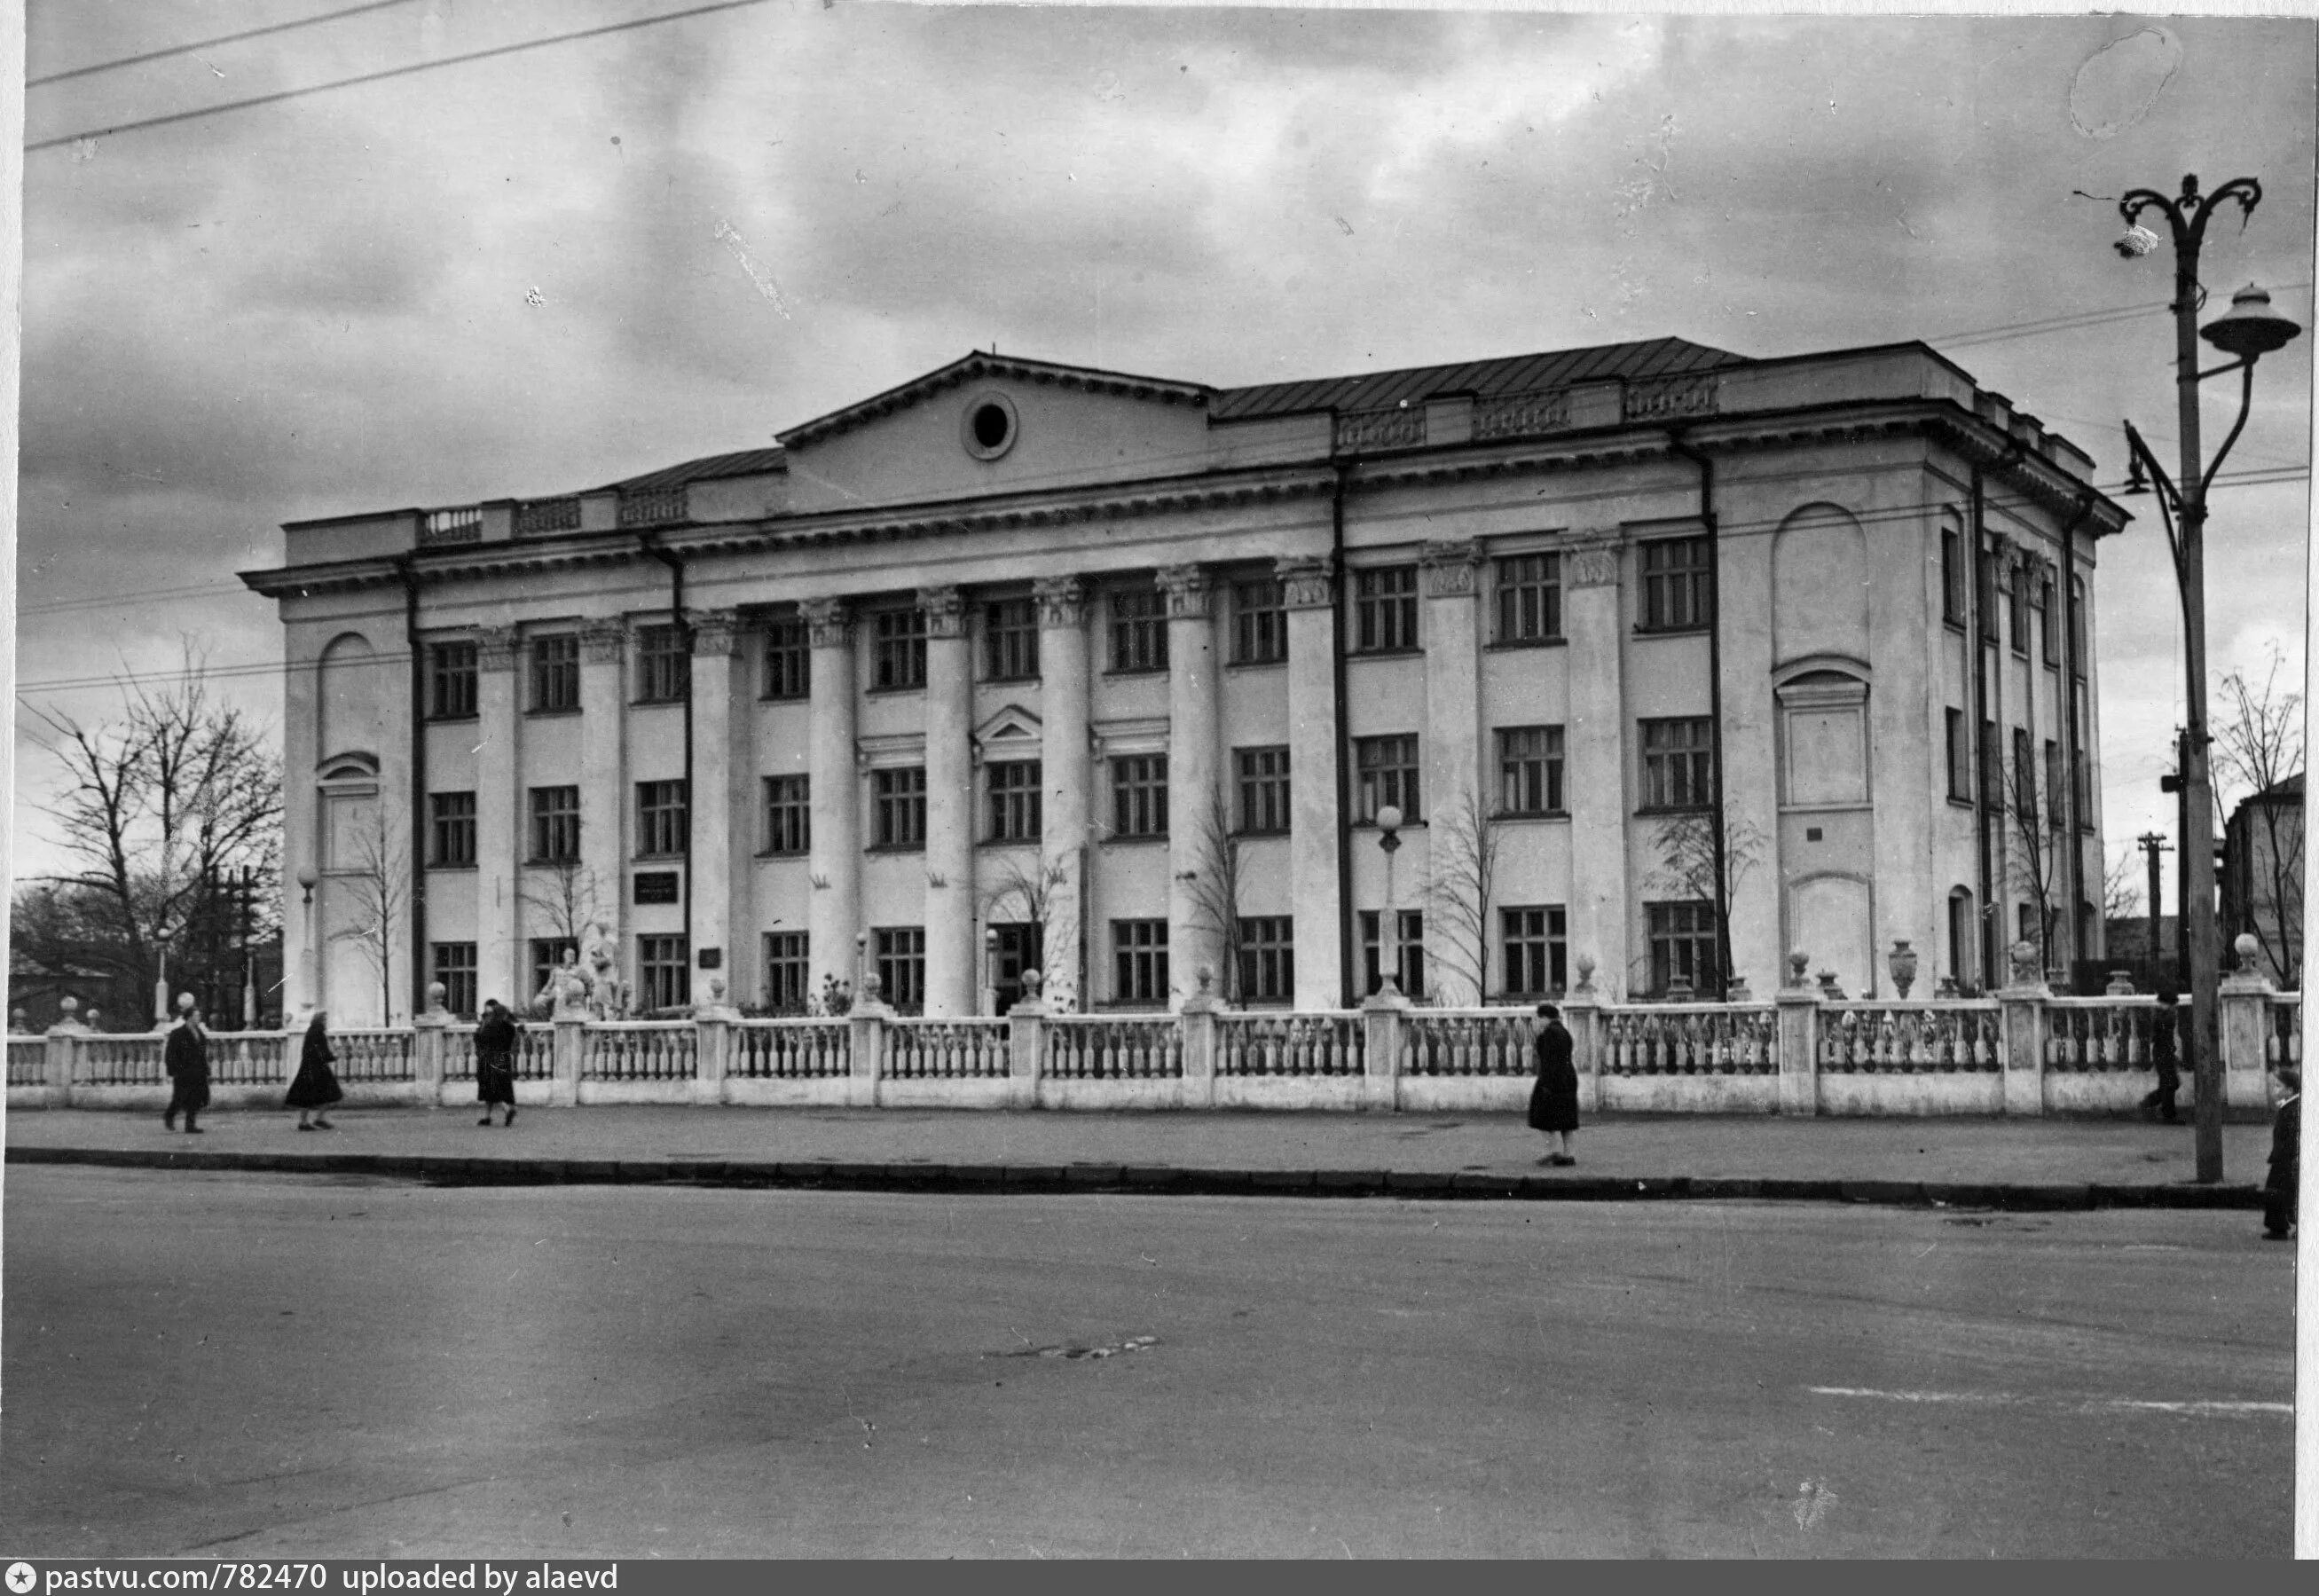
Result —
<path fill-rule="evenodd" d="M 1626 817 L 1628 756 L 1619 603 L 1619 534 L 1577 534 L 1563 543 L 1563 631 L 1570 638 L 1570 951 L 1591 953 L 1609 998 L 1628 991 Z"/>

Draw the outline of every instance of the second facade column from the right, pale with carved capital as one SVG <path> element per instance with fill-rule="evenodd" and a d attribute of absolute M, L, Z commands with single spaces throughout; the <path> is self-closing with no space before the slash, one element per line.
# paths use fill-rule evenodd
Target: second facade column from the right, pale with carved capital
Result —
<path fill-rule="evenodd" d="M 1491 812 L 1491 791 L 1482 779 L 1482 652 L 1480 615 L 1475 610 L 1482 568 L 1480 543 L 1429 543 L 1426 566 L 1426 724 L 1419 733 L 1424 752 L 1424 786 L 1419 791 L 1422 817 L 1429 828 L 1426 870 L 1440 872 L 1452 891 L 1473 886 L 1473 870 L 1459 868 L 1459 854 L 1470 854 L 1484 840 Z M 1426 870 L 1405 870 L 1396 882 L 1394 912 L 1424 907 Z M 1461 882 L 1463 877 L 1463 882 Z M 1477 991 L 1449 991 L 1445 984 L 1463 988 L 1454 972 L 1475 953 L 1486 967 L 1489 953 L 1489 905 L 1482 905 L 1482 946 L 1461 956 L 1456 937 L 1445 935 L 1440 916 L 1426 912 L 1426 979 L 1442 993 L 1442 1002 L 1482 1002 Z M 1398 944 L 1398 940 L 1396 940 Z M 1449 956 L 1442 956 L 1449 946 Z"/>

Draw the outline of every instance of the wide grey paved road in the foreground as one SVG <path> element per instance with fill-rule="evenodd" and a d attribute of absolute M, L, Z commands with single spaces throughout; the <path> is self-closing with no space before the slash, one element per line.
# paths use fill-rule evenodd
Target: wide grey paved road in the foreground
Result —
<path fill-rule="evenodd" d="M 2284 1557 L 2249 1229 L 16 1167 L 0 1554 Z"/>

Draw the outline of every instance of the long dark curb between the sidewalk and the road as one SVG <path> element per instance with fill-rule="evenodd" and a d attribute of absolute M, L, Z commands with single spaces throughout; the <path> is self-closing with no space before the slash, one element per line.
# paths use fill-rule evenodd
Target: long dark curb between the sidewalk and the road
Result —
<path fill-rule="evenodd" d="M 424 1185 L 693 1185 L 821 1192 L 1088 1192 L 1134 1197 L 1435 1197 L 1466 1202 L 1830 1202 L 1902 1209 L 2261 1209 L 2259 1185 L 1797 1181 L 1753 1176 L 1547 1176 L 1431 1169 L 1178 1169 L 1171 1165 L 860 1165 L 772 1160 L 480 1158 L 417 1153 L 209 1153 L 7 1148 L 12 1165 L 366 1174 Z"/>

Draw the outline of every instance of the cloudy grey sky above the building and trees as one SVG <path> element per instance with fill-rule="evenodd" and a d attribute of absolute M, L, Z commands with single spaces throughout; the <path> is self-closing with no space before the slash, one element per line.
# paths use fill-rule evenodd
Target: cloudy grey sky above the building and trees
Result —
<path fill-rule="evenodd" d="M 278 522 L 761 445 L 974 346 L 1234 385 L 1927 339 L 2115 485 L 2117 420 L 2171 459 L 2175 401 L 2168 260 L 2110 253 L 2108 200 L 2259 176 L 2203 278 L 2312 320 L 2310 21 L 772 0 L 72 137 L 691 5 L 32 5 L 21 870 L 56 858 L 28 703 L 102 717 L 192 636 L 278 717 L 232 578 Z M 2217 494 L 2217 673 L 2300 680 L 2310 350 Z M 2101 561 L 2117 847 L 2173 830 L 2180 629 L 2154 524 Z"/>

